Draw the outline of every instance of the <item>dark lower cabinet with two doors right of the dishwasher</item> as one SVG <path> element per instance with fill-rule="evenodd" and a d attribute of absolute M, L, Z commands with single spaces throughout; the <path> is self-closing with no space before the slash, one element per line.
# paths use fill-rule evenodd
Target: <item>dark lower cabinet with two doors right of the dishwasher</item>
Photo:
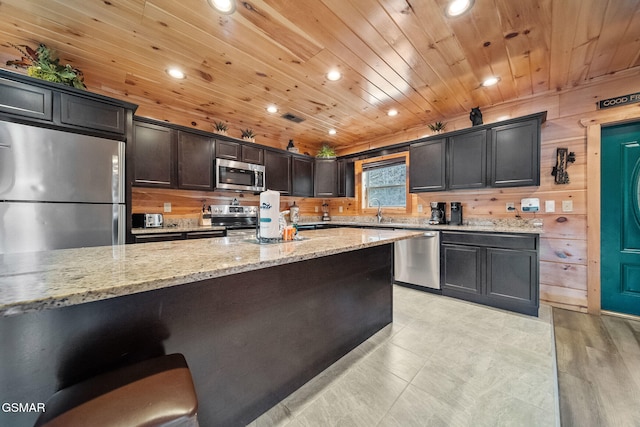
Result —
<path fill-rule="evenodd" d="M 538 315 L 537 234 L 443 231 L 441 242 L 443 295 Z"/>

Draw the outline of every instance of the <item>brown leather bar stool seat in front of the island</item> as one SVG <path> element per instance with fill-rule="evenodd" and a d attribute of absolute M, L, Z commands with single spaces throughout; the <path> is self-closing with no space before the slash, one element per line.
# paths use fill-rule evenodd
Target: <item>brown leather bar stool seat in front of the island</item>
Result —
<path fill-rule="evenodd" d="M 198 400 L 184 356 L 170 354 L 56 392 L 35 427 L 197 427 Z"/>

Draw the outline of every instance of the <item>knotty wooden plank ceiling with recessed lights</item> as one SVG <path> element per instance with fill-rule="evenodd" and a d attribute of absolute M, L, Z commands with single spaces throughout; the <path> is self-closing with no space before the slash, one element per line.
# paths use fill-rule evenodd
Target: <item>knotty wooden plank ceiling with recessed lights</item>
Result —
<path fill-rule="evenodd" d="M 341 149 L 640 65 L 640 0 L 475 0 L 457 18 L 447 0 L 237 2 L 221 15 L 206 0 L 2 0 L 1 66 L 20 56 L 10 43 L 43 42 L 138 115 Z"/>

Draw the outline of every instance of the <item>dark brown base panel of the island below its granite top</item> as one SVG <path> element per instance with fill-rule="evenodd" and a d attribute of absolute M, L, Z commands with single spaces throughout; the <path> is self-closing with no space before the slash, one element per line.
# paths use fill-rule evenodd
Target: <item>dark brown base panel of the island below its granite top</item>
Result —
<path fill-rule="evenodd" d="M 286 247 L 286 246 L 283 246 Z M 201 425 L 245 425 L 392 320 L 393 246 L 0 319 L 0 399 L 184 354 Z M 2 413 L 31 426 L 37 413 Z M 8 424 L 7 424 L 8 423 Z"/>

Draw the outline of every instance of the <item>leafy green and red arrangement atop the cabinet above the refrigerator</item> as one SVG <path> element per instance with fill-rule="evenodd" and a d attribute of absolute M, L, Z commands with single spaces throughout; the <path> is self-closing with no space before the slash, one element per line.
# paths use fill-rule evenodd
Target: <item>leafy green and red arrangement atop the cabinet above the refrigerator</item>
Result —
<path fill-rule="evenodd" d="M 46 45 L 40 43 L 36 50 L 27 45 L 11 44 L 21 54 L 22 58 L 7 61 L 7 65 L 16 68 L 26 68 L 27 74 L 37 79 L 62 83 L 78 89 L 86 89 L 82 71 L 71 65 L 60 65 L 60 59 Z"/>

